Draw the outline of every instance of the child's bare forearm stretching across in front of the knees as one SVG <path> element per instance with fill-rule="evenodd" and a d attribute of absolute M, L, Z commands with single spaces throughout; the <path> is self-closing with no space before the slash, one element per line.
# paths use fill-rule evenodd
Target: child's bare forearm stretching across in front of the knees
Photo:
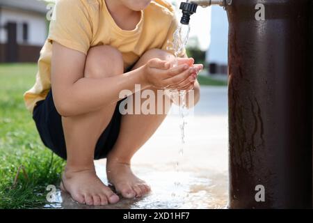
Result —
<path fill-rule="evenodd" d="M 147 86 L 143 82 L 143 68 L 113 77 L 93 79 L 83 77 L 70 86 L 56 86 L 58 91 L 58 109 L 63 116 L 77 116 L 94 112 L 106 105 L 118 102 L 120 92 L 128 90 L 135 93 L 135 84 L 141 84 L 141 89 Z M 54 91 L 53 91 L 54 92 Z M 123 95 L 125 96 L 125 95 Z"/>

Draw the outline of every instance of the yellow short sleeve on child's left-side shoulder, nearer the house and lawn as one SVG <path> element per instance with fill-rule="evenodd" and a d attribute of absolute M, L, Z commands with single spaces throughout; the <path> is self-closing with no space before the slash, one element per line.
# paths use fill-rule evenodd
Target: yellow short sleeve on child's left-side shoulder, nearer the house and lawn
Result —
<path fill-rule="evenodd" d="M 81 0 L 58 0 L 49 26 L 48 41 L 87 54 L 93 37 L 88 6 Z"/>

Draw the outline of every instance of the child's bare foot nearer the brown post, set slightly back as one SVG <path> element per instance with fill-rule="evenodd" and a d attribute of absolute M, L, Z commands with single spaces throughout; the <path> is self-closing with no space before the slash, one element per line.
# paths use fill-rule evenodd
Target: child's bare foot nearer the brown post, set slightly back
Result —
<path fill-rule="evenodd" d="M 133 174 L 130 164 L 112 160 L 107 159 L 106 176 L 116 192 L 125 198 L 143 197 L 150 192 L 150 186 Z"/>

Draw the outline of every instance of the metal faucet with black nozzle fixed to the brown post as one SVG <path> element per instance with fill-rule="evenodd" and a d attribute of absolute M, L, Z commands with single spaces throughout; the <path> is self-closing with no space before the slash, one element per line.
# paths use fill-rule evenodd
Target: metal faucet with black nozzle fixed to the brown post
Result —
<path fill-rule="evenodd" d="M 231 4 L 232 0 L 186 0 L 186 2 L 182 2 L 179 7 L 179 9 L 182 10 L 180 23 L 188 25 L 191 15 L 196 13 L 198 6 L 203 8 L 207 6 L 222 6 L 226 9 L 226 7 Z"/>

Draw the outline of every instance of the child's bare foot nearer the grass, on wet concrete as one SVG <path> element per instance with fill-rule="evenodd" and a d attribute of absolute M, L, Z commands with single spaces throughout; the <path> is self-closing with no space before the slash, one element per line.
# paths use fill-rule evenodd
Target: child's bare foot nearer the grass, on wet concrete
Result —
<path fill-rule="evenodd" d="M 108 203 L 117 203 L 119 200 L 118 195 L 97 177 L 95 169 L 81 171 L 65 169 L 61 190 L 68 192 L 74 201 L 93 206 L 104 206 Z"/>

